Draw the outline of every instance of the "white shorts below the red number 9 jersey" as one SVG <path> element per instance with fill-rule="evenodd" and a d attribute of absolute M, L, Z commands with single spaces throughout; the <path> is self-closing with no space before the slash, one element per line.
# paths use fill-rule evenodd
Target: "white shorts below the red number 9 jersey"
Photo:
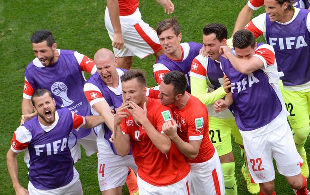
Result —
<path fill-rule="evenodd" d="M 137 176 L 137 183 L 139 186 L 139 194 L 140 195 L 189 195 L 189 177 L 188 174 L 182 180 L 167 186 L 157 187 L 151 185 L 144 180 L 142 180 L 139 175 Z"/>

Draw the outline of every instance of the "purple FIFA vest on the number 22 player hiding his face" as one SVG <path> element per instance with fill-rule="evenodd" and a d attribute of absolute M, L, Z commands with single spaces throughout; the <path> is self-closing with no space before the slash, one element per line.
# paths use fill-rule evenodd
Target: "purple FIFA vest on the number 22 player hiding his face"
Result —
<path fill-rule="evenodd" d="M 263 127 L 279 115 L 281 102 L 263 70 L 245 75 L 234 69 L 222 56 L 220 62 L 232 84 L 233 109 L 240 130 L 250 131 Z"/>

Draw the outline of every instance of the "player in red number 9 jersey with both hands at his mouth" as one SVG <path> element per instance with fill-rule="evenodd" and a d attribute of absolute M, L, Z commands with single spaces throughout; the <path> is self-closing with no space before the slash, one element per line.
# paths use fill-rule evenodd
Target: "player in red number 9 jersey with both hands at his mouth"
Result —
<path fill-rule="evenodd" d="M 138 166 L 140 194 L 189 194 L 190 167 L 184 155 L 162 132 L 171 109 L 146 96 L 146 78 L 140 70 L 121 76 L 124 104 L 114 119 L 114 145 L 121 156 L 130 146 Z"/>

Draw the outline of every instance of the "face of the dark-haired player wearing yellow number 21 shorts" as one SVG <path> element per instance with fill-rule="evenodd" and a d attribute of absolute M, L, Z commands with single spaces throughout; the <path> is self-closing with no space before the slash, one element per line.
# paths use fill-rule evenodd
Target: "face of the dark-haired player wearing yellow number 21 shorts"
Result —
<path fill-rule="evenodd" d="M 219 48 L 220 46 L 226 45 L 226 41 L 224 40 L 220 42 L 218 39 L 216 39 L 215 33 L 210 35 L 203 35 L 203 49 L 212 60 L 219 60 Z"/>

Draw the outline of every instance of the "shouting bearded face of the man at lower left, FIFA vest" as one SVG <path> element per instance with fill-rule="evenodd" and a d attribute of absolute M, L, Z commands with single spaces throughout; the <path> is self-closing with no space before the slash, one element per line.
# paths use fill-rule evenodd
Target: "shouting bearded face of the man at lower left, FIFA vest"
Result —
<path fill-rule="evenodd" d="M 56 103 L 48 93 L 40 97 L 34 97 L 34 109 L 39 115 L 38 120 L 45 126 L 50 126 L 55 122 Z"/>

